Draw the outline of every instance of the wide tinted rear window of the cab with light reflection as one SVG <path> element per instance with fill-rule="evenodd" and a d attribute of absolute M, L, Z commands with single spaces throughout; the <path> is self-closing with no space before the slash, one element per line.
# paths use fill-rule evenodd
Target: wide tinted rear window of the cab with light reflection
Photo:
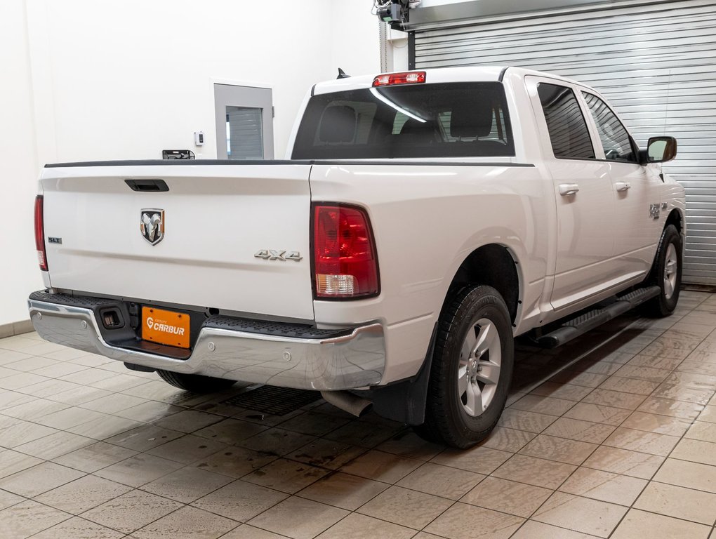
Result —
<path fill-rule="evenodd" d="M 311 97 L 294 159 L 515 155 L 500 82 L 406 84 Z"/>

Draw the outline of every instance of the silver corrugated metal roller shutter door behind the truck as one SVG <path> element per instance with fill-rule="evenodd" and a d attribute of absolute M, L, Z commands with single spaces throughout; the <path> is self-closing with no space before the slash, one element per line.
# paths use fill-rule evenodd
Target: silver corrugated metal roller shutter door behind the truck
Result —
<path fill-rule="evenodd" d="M 564 13 L 564 12 L 562 12 Z M 531 67 L 599 89 L 639 145 L 679 140 L 664 171 L 686 188 L 684 282 L 716 285 L 716 4 L 631 5 L 415 28 L 415 67 Z"/>

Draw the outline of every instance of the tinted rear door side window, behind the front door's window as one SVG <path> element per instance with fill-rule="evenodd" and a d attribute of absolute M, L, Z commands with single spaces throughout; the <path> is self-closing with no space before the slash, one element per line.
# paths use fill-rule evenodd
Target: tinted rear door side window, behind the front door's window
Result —
<path fill-rule="evenodd" d="M 542 105 L 554 157 L 596 159 L 589 128 L 571 88 L 540 82 L 537 93 Z"/>

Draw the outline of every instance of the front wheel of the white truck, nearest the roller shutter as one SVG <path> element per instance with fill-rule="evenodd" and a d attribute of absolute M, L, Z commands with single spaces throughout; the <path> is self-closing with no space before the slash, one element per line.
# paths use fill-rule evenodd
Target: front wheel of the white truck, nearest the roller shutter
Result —
<path fill-rule="evenodd" d="M 675 267 L 674 267 L 675 262 Z M 664 228 L 654 258 L 654 266 L 647 278 L 649 286 L 659 287 L 659 296 L 650 299 L 642 308 L 646 316 L 662 318 L 669 316 L 679 302 L 682 273 L 682 238 L 674 225 Z"/>

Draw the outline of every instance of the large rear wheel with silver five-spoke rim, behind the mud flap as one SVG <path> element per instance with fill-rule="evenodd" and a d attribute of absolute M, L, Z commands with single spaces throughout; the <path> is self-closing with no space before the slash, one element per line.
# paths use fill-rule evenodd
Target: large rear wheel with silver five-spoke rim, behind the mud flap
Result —
<path fill-rule="evenodd" d="M 469 286 L 456 293 L 440 315 L 436 339 L 425 423 L 415 430 L 427 440 L 464 449 L 495 428 L 512 380 L 512 324 L 500 293 L 490 286 Z M 480 339 L 490 339 L 489 349 L 479 351 Z M 463 348 L 470 353 L 463 354 L 461 365 Z"/>

